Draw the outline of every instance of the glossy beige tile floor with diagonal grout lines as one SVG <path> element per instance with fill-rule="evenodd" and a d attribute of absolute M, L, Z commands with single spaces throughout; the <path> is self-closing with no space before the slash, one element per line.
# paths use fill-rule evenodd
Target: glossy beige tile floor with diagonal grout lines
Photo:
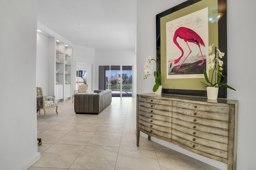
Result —
<path fill-rule="evenodd" d="M 43 112 L 43 111 L 42 111 Z M 75 114 L 71 100 L 37 115 L 41 159 L 29 170 L 216 170 L 213 166 L 140 137 L 136 98 L 112 97 L 99 115 Z"/>

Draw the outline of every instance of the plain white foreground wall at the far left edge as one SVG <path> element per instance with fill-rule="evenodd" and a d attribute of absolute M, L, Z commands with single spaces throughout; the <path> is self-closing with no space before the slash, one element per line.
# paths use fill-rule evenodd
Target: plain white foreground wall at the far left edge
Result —
<path fill-rule="evenodd" d="M 37 160 L 35 0 L 0 1 L 0 168 Z"/>

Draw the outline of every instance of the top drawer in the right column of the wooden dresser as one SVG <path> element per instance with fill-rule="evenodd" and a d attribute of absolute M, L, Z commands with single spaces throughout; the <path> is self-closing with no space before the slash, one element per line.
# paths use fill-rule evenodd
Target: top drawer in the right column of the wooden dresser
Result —
<path fill-rule="evenodd" d="M 223 113 L 227 114 L 229 113 L 229 107 L 225 106 L 214 106 L 214 105 L 202 105 L 197 103 L 187 103 L 187 102 L 181 102 L 181 101 L 173 101 L 172 105 L 174 107 L 179 107 L 182 109 L 190 109 L 194 111 L 204 111 L 204 112 L 210 112 L 210 113 Z M 182 110 L 181 109 L 181 110 Z M 176 109 L 176 111 L 179 109 Z"/>

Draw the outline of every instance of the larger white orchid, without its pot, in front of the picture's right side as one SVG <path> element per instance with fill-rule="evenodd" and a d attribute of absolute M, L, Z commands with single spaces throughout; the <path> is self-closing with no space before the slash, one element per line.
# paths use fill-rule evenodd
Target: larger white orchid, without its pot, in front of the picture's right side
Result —
<path fill-rule="evenodd" d="M 208 48 L 208 53 L 212 53 L 212 46 L 214 44 L 210 45 Z M 211 81 L 208 79 L 206 70 L 203 69 L 203 73 L 204 73 L 204 78 L 207 81 L 208 84 L 204 83 L 201 81 L 201 83 L 203 83 L 205 85 L 205 87 L 220 87 L 220 86 L 225 86 L 229 89 L 232 89 L 234 91 L 236 91 L 233 87 L 230 87 L 229 85 L 227 85 L 227 83 L 222 83 L 221 82 L 221 77 L 224 75 L 222 74 L 222 65 L 224 64 L 222 60 L 222 57 L 225 55 L 225 53 L 221 52 L 217 47 L 214 48 L 214 53 L 212 55 L 209 55 L 208 57 L 206 57 L 206 60 L 208 62 L 208 67 L 207 69 L 213 69 L 212 72 L 212 79 Z M 218 58 L 217 58 L 218 56 Z M 213 79 L 213 77 L 215 77 L 215 81 Z"/>

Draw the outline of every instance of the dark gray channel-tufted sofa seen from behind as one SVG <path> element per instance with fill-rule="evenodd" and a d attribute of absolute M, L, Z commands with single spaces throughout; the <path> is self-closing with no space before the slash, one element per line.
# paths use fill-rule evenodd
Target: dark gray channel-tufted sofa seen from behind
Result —
<path fill-rule="evenodd" d="M 94 90 L 94 93 L 75 94 L 74 109 L 76 113 L 99 114 L 112 101 L 111 90 Z"/>

